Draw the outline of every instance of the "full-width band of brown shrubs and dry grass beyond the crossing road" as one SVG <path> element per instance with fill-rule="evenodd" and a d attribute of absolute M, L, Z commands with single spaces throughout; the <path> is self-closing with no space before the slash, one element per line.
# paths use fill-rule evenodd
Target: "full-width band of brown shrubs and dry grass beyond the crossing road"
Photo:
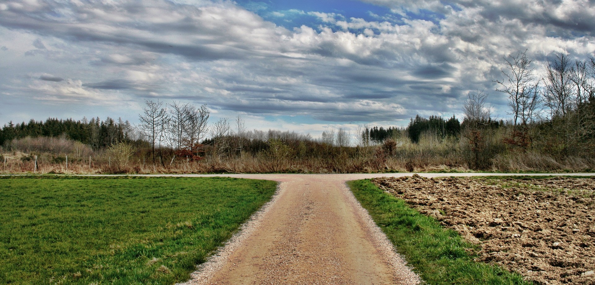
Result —
<path fill-rule="evenodd" d="M 519 152 L 503 143 L 503 131 L 484 134 L 480 149 L 465 137 L 440 138 L 422 133 L 418 143 L 406 136 L 393 137 L 383 145 L 333 146 L 315 140 L 248 140 L 240 151 L 220 152 L 205 146 L 206 155 L 178 157 L 171 149 L 159 149 L 151 157 L 145 148 L 134 151 L 120 143 L 93 151 L 73 140 L 37 137 L 12 140 L 0 154 L 0 173 L 55 174 L 183 174 L 183 173 L 383 173 L 492 171 L 584 171 L 595 168 L 595 159 L 563 158 L 540 152 Z M 280 137 L 280 136 L 279 136 Z M 233 139 L 231 137 L 230 139 Z M 45 145 L 48 144 L 48 145 Z M 230 142 L 233 145 L 233 142 Z M 37 156 L 37 168 L 35 167 Z M 68 156 L 68 159 L 67 159 Z M 477 161 L 476 158 L 480 158 Z M 4 164 L 4 160 L 6 163 Z"/>

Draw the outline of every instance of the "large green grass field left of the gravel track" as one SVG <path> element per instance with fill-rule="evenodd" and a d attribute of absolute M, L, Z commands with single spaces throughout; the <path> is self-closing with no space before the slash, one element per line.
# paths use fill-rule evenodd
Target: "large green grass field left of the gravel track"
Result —
<path fill-rule="evenodd" d="M 236 178 L 0 179 L 0 284 L 173 284 L 275 192 Z"/>

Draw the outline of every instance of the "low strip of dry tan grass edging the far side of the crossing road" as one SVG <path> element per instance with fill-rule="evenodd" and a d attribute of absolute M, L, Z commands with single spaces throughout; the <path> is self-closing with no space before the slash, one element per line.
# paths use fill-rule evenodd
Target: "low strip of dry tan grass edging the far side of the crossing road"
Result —
<path fill-rule="evenodd" d="M 327 158 L 292 158 L 270 161 L 256 156 L 174 161 L 170 164 L 143 165 L 138 159 L 126 166 L 109 165 L 105 159 L 93 161 L 52 162 L 39 156 L 35 173 L 45 174 L 199 174 L 199 173 L 389 173 L 389 172 L 468 172 L 464 159 L 450 156 L 339 156 Z M 92 158 L 93 159 L 93 158 Z M 539 154 L 499 154 L 492 159 L 492 171 L 585 171 L 595 168 L 595 159 L 568 157 L 563 160 Z M 34 161 L 8 159 L 3 174 L 34 173 Z M 4 166 L 4 165 L 3 165 Z"/>

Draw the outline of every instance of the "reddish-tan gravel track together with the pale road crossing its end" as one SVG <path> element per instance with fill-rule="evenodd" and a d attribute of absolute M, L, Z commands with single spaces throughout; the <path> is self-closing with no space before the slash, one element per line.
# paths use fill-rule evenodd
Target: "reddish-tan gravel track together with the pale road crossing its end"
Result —
<path fill-rule="evenodd" d="M 345 182 L 380 174 L 155 174 L 280 181 L 273 200 L 226 247 L 201 265 L 195 284 L 417 284 Z M 595 176 L 584 174 L 419 173 L 443 176 Z"/>

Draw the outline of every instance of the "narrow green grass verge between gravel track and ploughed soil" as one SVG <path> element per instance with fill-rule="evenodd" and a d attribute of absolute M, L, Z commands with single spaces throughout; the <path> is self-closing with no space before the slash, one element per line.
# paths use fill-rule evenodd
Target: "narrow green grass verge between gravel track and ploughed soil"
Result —
<path fill-rule="evenodd" d="M 349 186 L 375 223 L 427 284 L 531 284 L 521 275 L 473 261 L 477 248 L 369 180 Z"/>

